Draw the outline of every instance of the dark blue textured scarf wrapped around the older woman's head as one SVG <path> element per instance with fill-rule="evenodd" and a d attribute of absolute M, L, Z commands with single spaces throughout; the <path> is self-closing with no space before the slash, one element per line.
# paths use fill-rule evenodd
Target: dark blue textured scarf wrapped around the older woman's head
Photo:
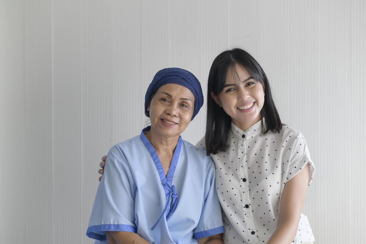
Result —
<path fill-rule="evenodd" d="M 193 116 L 191 119 L 193 120 L 203 105 L 202 88 L 196 76 L 194 76 L 191 72 L 181 68 L 166 68 L 158 71 L 155 74 L 153 81 L 147 88 L 145 95 L 145 115 L 150 117 L 149 111 L 147 111 L 147 103 L 149 102 L 151 95 L 161 86 L 169 83 L 187 87 L 193 93 L 195 97 Z"/>

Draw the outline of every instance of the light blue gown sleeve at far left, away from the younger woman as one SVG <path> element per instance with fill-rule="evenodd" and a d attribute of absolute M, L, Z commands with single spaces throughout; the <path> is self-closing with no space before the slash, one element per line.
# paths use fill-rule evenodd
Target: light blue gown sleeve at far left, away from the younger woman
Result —
<path fill-rule="evenodd" d="M 105 241 L 105 231 L 136 232 L 134 181 L 124 156 L 116 159 L 111 149 L 99 184 L 86 235 Z"/>

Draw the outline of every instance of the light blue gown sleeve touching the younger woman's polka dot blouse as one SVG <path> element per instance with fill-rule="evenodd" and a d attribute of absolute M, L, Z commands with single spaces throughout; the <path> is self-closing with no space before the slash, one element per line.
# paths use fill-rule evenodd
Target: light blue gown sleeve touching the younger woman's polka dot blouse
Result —
<path fill-rule="evenodd" d="M 211 157 L 209 158 L 208 173 L 206 174 L 204 203 L 201 217 L 193 235 L 195 239 L 213 236 L 225 232 L 219 198 L 215 188 L 215 166 Z"/>

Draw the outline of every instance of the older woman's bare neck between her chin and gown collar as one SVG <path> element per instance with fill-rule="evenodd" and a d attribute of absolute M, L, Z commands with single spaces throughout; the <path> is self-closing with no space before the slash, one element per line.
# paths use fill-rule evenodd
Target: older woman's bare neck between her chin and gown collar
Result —
<path fill-rule="evenodd" d="M 158 134 L 153 128 L 145 133 L 146 138 L 154 147 L 157 153 L 172 155 L 178 144 L 178 136 L 166 137 Z"/>

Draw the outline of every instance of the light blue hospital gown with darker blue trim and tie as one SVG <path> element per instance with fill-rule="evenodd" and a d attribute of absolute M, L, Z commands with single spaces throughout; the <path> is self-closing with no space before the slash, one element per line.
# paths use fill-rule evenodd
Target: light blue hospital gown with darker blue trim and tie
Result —
<path fill-rule="evenodd" d="M 165 178 L 149 129 L 109 150 L 86 235 L 107 243 L 105 231 L 128 231 L 169 244 L 223 233 L 212 158 L 180 137 Z"/>

